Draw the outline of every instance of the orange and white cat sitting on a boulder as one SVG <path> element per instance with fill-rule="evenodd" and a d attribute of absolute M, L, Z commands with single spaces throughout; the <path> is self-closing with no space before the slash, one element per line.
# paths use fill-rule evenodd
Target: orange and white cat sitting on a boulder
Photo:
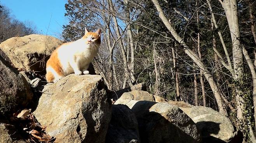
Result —
<path fill-rule="evenodd" d="M 85 29 L 81 39 L 64 43 L 55 49 L 46 63 L 47 82 L 56 82 L 71 73 L 89 74 L 88 66 L 100 46 L 100 33 L 100 29 L 96 32 Z"/>

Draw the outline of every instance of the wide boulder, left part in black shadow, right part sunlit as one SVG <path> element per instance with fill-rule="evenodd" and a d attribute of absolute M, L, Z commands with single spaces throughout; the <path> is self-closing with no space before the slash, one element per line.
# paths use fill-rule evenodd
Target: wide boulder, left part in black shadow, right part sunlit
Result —
<path fill-rule="evenodd" d="M 195 123 L 178 106 L 168 103 L 118 99 L 132 109 L 142 143 L 200 143 Z"/>

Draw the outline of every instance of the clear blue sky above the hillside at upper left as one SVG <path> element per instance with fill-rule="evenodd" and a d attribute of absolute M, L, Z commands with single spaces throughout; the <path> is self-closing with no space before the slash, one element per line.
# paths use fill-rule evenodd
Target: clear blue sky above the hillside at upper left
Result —
<path fill-rule="evenodd" d="M 0 3 L 16 19 L 32 22 L 39 34 L 60 37 L 62 25 L 68 23 L 64 16 L 67 0 L 0 0 Z"/>

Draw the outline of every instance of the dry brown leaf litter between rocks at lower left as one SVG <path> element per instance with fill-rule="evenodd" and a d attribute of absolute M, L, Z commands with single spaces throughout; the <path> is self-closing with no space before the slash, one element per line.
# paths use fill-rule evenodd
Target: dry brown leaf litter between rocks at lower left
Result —
<path fill-rule="evenodd" d="M 28 143 L 53 143 L 56 139 L 46 133 L 46 127 L 40 125 L 31 109 L 14 113 L 10 120 Z"/>

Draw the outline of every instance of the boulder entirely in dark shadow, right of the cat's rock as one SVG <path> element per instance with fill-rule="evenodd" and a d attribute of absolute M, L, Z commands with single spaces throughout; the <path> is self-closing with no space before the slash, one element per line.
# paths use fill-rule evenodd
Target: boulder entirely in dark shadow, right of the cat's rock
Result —
<path fill-rule="evenodd" d="M 105 143 L 140 143 L 138 121 L 126 105 L 112 106 Z"/>

